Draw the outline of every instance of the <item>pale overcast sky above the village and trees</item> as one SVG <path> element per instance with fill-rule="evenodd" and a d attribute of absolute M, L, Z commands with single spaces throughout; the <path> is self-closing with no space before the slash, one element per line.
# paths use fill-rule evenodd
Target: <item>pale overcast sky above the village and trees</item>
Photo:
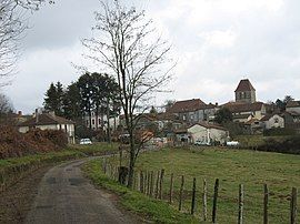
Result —
<path fill-rule="evenodd" d="M 300 99 L 299 0 L 136 0 L 172 43 L 173 93 L 157 99 L 224 103 L 248 78 L 260 101 Z M 4 89 L 16 110 L 41 106 L 51 82 L 64 85 L 84 63 L 80 40 L 91 37 L 98 0 L 57 0 L 30 16 L 18 74 Z M 99 11 L 99 10 L 98 10 Z"/>

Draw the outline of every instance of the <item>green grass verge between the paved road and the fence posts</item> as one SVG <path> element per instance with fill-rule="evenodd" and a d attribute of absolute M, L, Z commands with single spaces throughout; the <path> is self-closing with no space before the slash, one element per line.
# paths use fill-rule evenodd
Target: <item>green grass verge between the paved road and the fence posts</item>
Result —
<path fill-rule="evenodd" d="M 150 198 L 110 180 L 101 172 L 101 161 L 99 160 L 88 162 L 82 170 L 97 186 L 117 193 L 120 198 L 120 204 L 124 208 L 146 217 L 146 220 L 156 223 L 199 223 L 199 221 L 191 215 L 179 213 L 166 202 Z"/>

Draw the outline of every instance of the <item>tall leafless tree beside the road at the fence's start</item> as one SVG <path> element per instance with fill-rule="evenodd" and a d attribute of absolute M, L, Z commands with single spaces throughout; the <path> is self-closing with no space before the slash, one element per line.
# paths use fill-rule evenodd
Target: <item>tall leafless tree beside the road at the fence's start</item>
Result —
<path fill-rule="evenodd" d="M 153 93 L 166 89 L 174 64 L 168 58 L 170 45 L 158 38 L 144 11 L 128 9 L 119 0 L 101 2 L 101 7 L 102 11 L 96 12 L 96 35 L 82 40 L 82 44 L 89 50 L 89 59 L 104 65 L 109 69 L 108 73 L 116 75 L 129 134 L 128 186 L 131 186 L 136 160 L 141 149 L 141 144 L 134 141 L 136 135 L 139 135 L 137 124 L 149 110 L 149 99 Z"/>

